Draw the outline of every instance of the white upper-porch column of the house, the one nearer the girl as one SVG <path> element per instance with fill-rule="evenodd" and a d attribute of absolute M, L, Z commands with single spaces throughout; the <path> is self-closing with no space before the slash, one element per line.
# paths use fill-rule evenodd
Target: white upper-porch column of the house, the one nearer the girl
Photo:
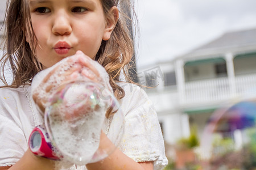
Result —
<path fill-rule="evenodd" d="M 175 64 L 175 74 L 177 80 L 177 92 L 179 94 L 180 104 L 185 102 L 185 77 L 184 77 L 184 62 L 179 59 Z"/>

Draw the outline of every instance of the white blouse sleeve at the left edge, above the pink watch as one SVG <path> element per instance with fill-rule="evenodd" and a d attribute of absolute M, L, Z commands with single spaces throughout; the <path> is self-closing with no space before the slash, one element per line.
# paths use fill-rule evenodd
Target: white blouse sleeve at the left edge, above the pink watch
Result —
<path fill-rule="evenodd" d="M 27 150 L 27 142 L 12 91 L 0 89 L 0 167 L 18 162 Z"/>

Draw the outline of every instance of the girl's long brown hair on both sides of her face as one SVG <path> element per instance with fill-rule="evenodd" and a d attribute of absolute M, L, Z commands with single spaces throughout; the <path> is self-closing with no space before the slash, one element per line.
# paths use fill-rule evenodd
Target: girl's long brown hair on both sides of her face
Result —
<path fill-rule="evenodd" d="M 123 6 L 131 8 L 129 0 L 101 0 L 102 7 L 106 18 L 108 18 L 109 10 L 113 6 L 119 7 L 119 20 L 115 25 L 112 36 L 108 41 L 102 41 L 100 49 L 96 55 L 98 61 L 107 71 L 110 77 L 110 85 L 114 90 L 114 95 L 117 99 L 122 99 L 125 96 L 125 91 L 119 87 L 116 82 L 119 82 L 121 70 L 129 67 L 129 62 L 133 56 L 133 40 L 128 29 L 131 24 Z M 8 10 L 6 11 L 6 35 L 4 37 L 4 52 L 5 55 L 0 59 L 2 67 L 2 76 L 0 79 L 5 83 L 2 87 L 17 88 L 25 84 L 31 84 L 32 78 L 42 70 L 42 65 L 35 57 L 36 45 L 30 47 L 26 41 L 26 36 L 30 40 L 36 40 L 35 33 L 32 31 L 30 18 L 30 10 L 28 0 L 7 0 Z M 122 10 L 124 9 L 124 10 Z M 131 8 L 134 9 L 134 8 Z M 26 35 L 26 36 L 25 36 Z M 10 70 L 13 74 L 13 82 L 7 84 L 5 78 L 6 65 L 10 64 Z M 132 82 L 127 71 L 123 71 L 126 81 Z"/>

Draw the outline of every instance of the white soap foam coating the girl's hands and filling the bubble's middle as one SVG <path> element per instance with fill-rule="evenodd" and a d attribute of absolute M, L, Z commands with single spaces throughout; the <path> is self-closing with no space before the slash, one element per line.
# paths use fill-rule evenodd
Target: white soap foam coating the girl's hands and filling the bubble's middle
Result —
<path fill-rule="evenodd" d="M 88 71 L 88 75 L 95 76 L 81 65 L 76 54 L 40 71 L 31 85 L 32 95 L 46 108 L 46 126 L 53 145 L 67 164 L 85 165 L 97 153 L 105 113 L 111 101 L 108 97 L 101 99 L 99 92 L 103 87 L 109 91 L 107 94 L 113 94 L 105 69 L 96 61 L 88 62 L 100 73 L 98 83 L 90 82 L 79 70 L 76 78 L 65 80 L 64 74 L 73 67 L 81 67 L 82 71 Z M 49 74 L 51 76 L 47 77 Z"/>

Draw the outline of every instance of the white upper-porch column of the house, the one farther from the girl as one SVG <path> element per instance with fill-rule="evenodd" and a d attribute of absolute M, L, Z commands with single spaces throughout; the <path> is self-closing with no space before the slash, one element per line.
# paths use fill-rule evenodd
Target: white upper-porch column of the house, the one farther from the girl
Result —
<path fill-rule="evenodd" d="M 227 70 L 228 79 L 229 79 L 230 95 L 236 96 L 236 79 L 234 74 L 233 54 L 227 53 L 225 58 L 226 58 L 226 70 Z"/>

